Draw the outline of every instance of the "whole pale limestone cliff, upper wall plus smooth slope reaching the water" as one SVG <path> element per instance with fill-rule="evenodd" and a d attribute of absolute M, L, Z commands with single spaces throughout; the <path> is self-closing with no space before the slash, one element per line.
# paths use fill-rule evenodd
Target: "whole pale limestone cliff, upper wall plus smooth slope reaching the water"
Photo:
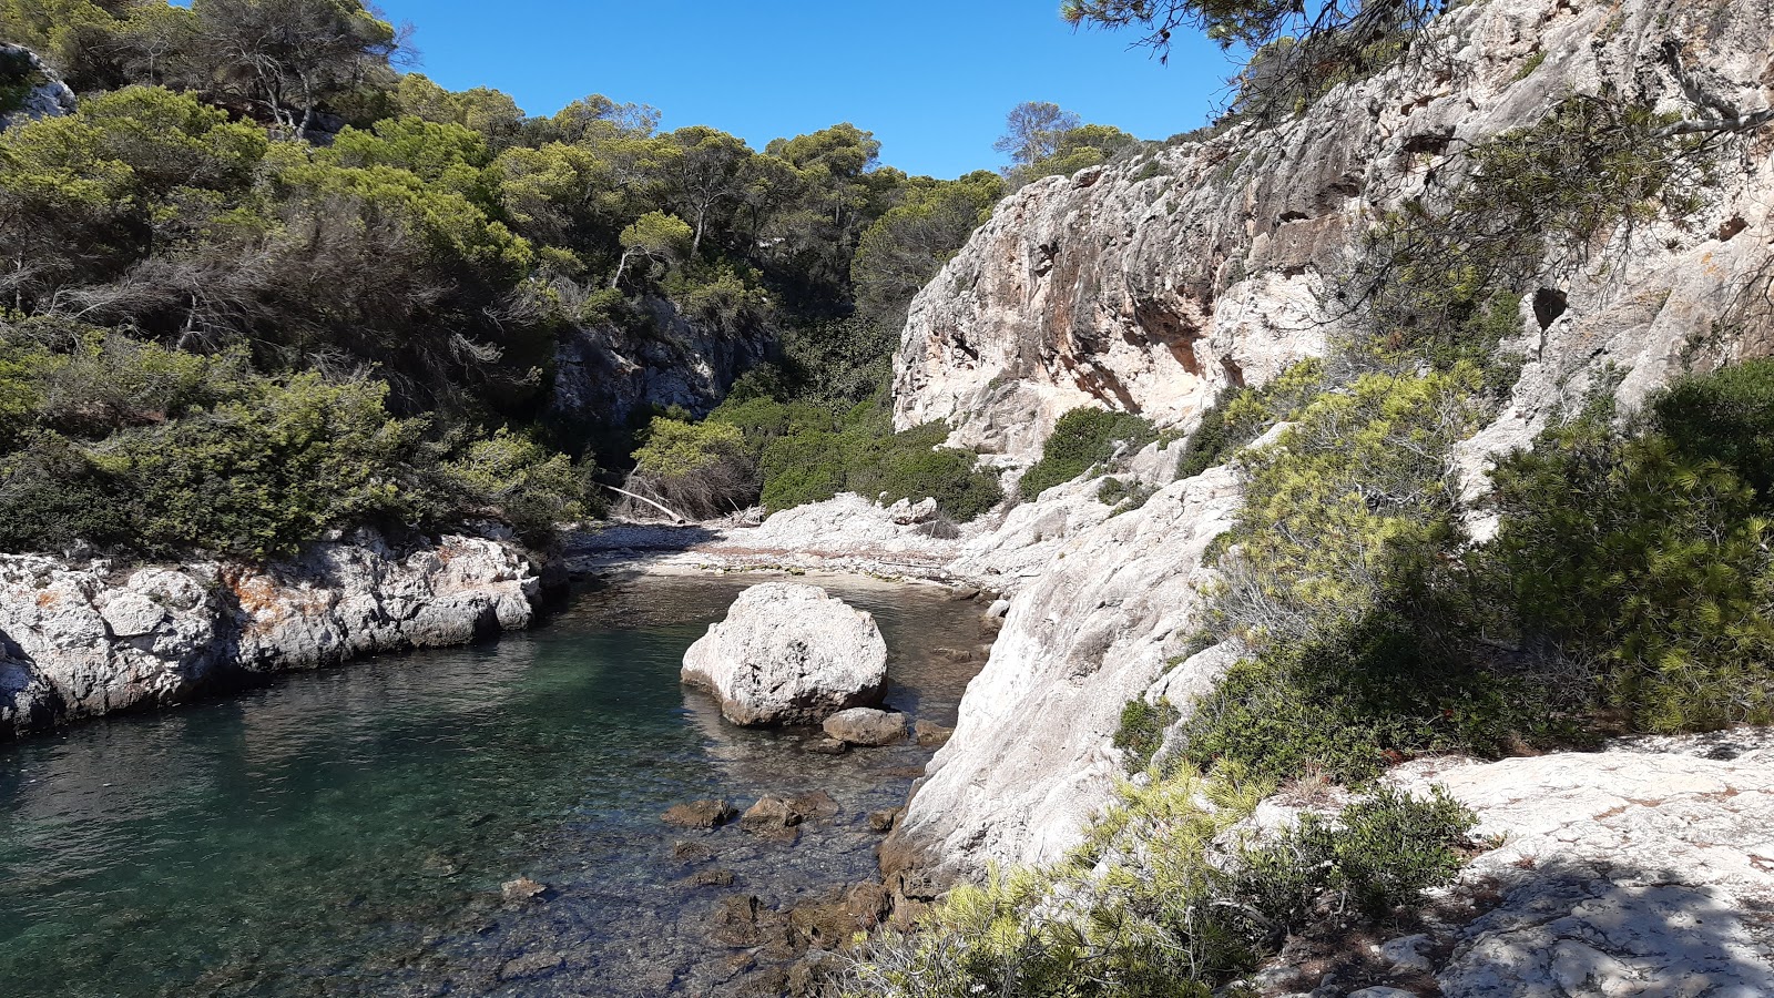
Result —
<path fill-rule="evenodd" d="M 1362 233 L 1432 176 L 1469 170 L 1471 144 L 1570 94 L 1763 121 L 1770 23 L 1774 0 L 1480 0 L 1444 16 L 1440 71 L 1394 69 L 1268 130 L 1031 185 L 915 300 L 896 419 L 949 419 L 954 442 L 1008 463 L 1038 455 L 1075 405 L 1189 430 L 1219 389 L 1325 348 Z M 1774 130 L 1728 133 L 1715 154 L 1698 213 L 1549 266 L 1558 282 L 1524 298 L 1513 346 L 1526 366 L 1499 419 L 1462 446 L 1469 487 L 1609 369 L 1636 403 L 1685 366 L 1770 350 Z M 910 895 L 988 861 L 1057 856 L 1105 801 L 1119 705 L 1148 691 L 1187 701 L 1236 657 L 1185 657 L 1212 577 L 1203 550 L 1236 508 L 1236 476 L 1162 485 L 1114 517 L 1091 488 L 1015 510 L 956 563 L 1013 600 L 954 739 L 883 851 Z"/>

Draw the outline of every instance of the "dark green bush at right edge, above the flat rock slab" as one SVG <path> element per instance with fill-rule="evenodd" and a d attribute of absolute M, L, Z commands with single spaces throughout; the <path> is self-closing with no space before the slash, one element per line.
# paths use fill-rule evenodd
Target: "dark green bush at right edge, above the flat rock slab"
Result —
<path fill-rule="evenodd" d="M 1735 471 L 1769 474 L 1765 384 L 1765 366 L 1682 382 L 1625 435 L 1598 401 L 1497 465 L 1481 570 L 1526 650 L 1593 675 L 1636 728 L 1774 719 L 1769 522 Z"/>

